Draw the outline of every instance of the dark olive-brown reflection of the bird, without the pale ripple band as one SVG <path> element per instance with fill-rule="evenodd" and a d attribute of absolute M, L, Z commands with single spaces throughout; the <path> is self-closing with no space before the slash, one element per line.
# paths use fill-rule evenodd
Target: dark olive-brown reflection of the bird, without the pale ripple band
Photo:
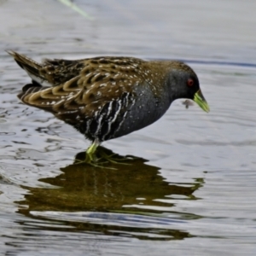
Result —
<path fill-rule="evenodd" d="M 109 154 L 109 150 L 106 150 Z M 120 215 L 139 214 L 157 216 L 173 212 L 172 195 L 183 195 L 193 198 L 193 193 L 201 187 L 201 180 L 195 183 L 168 183 L 160 176 L 160 168 L 149 166 L 147 160 L 133 158 L 124 164 L 112 164 L 110 168 L 96 168 L 84 164 L 76 164 L 84 159 L 84 153 L 76 156 L 75 163 L 61 168 L 62 173 L 57 177 L 46 177 L 41 182 L 57 186 L 55 189 L 26 188 L 30 194 L 25 195 L 25 201 L 20 201 L 19 212 L 30 216 L 31 211 L 55 212 L 114 212 Z M 196 199 L 194 197 L 194 199 Z M 176 212 L 177 213 L 177 212 Z M 195 215 L 189 218 L 198 218 Z M 113 227 L 102 224 L 76 223 L 79 230 L 102 231 L 111 233 Z M 154 239 L 146 234 L 154 232 L 164 235 L 157 239 L 183 239 L 189 237 L 188 232 L 180 230 L 157 230 L 155 228 L 138 228 L 115 226 L 114 230 L 131 232 L 131 236 L 141 237 L 142 233 L 148 239 Z M 109 233 L 109 234 L 110 234 Z M 137 235 L 139 234 L 139 235 Z"/>

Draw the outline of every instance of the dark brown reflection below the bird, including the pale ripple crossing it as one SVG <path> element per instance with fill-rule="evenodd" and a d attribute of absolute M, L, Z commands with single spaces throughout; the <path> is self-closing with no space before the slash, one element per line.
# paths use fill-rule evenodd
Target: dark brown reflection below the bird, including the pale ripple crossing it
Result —
<path fill-rule="evenodd" d="M 84 153 L 80 153 L 76 160 L 83 158 Z M 19 212 L 30 218 L 59 220 L 74 231 L 148 240 L 191 237 L 189 232 L 179 230 L 178 224 L 184 228 L 186 219 L 201 217 L 174 212 L 169 201 L 172 195 L 196 200 L 192 194 L 201 187 L 202 179 L 169 183 L 160 176 L 158 167 L 148 166 L 146 161 L 136 158 L 129 165 L 112 164 L 115 169 L 84 164 L 61 168 L 61 175 L 40 179 L 59 188 L 24 187 L 30 194 L 19 202 Z M 43 229 L 58 230 L 56 225 Z"/>

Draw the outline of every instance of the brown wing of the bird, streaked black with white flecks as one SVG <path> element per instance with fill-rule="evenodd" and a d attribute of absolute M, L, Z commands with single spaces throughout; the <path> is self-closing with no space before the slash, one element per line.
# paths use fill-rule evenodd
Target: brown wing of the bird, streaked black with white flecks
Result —
<path fill-rule="evenodd" d="M 69 123 L 90 119 L 102 108 L 106 113 L 121 107 L 125 111 L 134 102 L 134 86 L 147 81 L 143 62 L 125 57 L 46 60 L 40 75 L 55 85 L 45 89 L 28 86 L 19 97 L 26 104 L 43 108 Z"/>

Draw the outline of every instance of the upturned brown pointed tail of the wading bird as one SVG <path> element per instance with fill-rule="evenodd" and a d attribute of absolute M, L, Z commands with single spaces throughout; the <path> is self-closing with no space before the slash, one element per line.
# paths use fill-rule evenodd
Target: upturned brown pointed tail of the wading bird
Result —
<path fill-rule="evenodd" d="M 40 74 L 40 69 L 43 67 L 41 64 L 39 64 L 36 61 L 33 61 L 25 55 L 20 55 L 13 50 L 7 50 L 7 52 L 9 53 L 9 55 L 12 55 L 14 57 L 18 65 L 21 68 L 23 68 L 26 71 L 26 73 L 28 73 L 32 80 L 37 81 L 37 78 L 44 79 Z"/>

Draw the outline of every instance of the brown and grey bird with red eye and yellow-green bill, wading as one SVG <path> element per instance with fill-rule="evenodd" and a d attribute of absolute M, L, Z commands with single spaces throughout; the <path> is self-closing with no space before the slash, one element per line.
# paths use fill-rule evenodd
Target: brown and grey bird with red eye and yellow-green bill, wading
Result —
<path fill-rule="evenodd" d="M 53 113 L 89 139 L 84 160 L 88 164 L 96 164 L 101 143 L 153 124 L 177 99 L 192 100 L 210 111 L 196 73 L 182 61 L 96 56 L 38 63 L 7 52 L 32 79 L 18 98 Z"/>

